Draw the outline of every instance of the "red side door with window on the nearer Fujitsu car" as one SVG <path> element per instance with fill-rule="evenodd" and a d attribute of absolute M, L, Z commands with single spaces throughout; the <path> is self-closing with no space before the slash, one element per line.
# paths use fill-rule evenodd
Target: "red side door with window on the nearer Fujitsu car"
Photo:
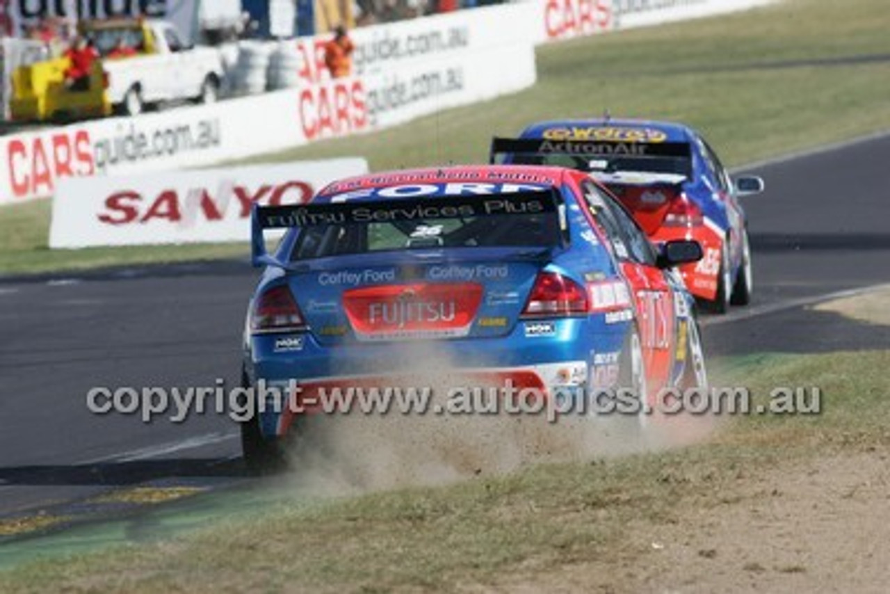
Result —
<path fill-rule="evenodd" d="M 582 182 L 580 190 L 587 202 L 588 214 L 609 236 L 613 254 L 634 293 L 650 386 L 666 386 L 675 357 L 673 290 L 664 271 L 657 266 L 651 242 L 619 201 L 590 180 Z"/>

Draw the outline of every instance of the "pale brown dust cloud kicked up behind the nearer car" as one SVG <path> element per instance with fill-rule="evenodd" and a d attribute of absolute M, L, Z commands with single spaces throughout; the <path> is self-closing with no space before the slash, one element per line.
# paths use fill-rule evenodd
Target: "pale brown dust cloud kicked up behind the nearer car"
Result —
<path fill-rule="evenodd" d="M 452 387 L 478 386 L 447 357 L 411 347 L 410 376 L 393 387 L 431 387 L 444 405 Z M 449 484 L 525 466 L 588 461 L 658 451 L 708 435 L 701 418 L 652 419 L 570 412 L 546 414 L 317 414 L 305 419 L 289 448 L 301 494 L 338 496 L 407 486 Z"/>

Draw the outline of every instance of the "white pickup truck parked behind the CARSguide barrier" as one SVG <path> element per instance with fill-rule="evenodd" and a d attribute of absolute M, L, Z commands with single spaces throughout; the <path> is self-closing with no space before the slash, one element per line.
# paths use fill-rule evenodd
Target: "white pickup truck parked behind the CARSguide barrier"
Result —
<path fill-rule="evenodd" d="M 223 79 L 223 60 L 211 47 L 182 42 L 164 20 L 116 19 L 85 23 L 108 75 L 114 109 L 134 116 L 145 106 L 193 100 L 215 102 Z"/>

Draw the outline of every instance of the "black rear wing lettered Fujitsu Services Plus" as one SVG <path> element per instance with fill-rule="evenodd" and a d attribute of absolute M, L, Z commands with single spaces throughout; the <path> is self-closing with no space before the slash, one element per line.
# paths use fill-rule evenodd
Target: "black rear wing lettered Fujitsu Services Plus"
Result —
<path fill-rule="evenodd" d="M 251 259 L 255 266 L 286 264 L 266 253 L 263 232 L 316 225 L 425 222 L 480 216 L 559 216 L 562 242 L 568 238 L 565 205 L 554 188 L 471 196 L 365 199 L 286 206 L 254 204 L 251 213 Z"/>

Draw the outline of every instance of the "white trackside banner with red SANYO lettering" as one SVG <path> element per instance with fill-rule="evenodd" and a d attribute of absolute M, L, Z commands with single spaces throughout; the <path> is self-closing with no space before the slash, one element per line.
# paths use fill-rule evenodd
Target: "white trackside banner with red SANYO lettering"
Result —
<path fill-rule="evenodd" d="M 51 248 L 247 241 L 250 211 L 302 204 L 365 159 L 301 161 L 159 175 L 66 177 L 53 197 Z"/>

